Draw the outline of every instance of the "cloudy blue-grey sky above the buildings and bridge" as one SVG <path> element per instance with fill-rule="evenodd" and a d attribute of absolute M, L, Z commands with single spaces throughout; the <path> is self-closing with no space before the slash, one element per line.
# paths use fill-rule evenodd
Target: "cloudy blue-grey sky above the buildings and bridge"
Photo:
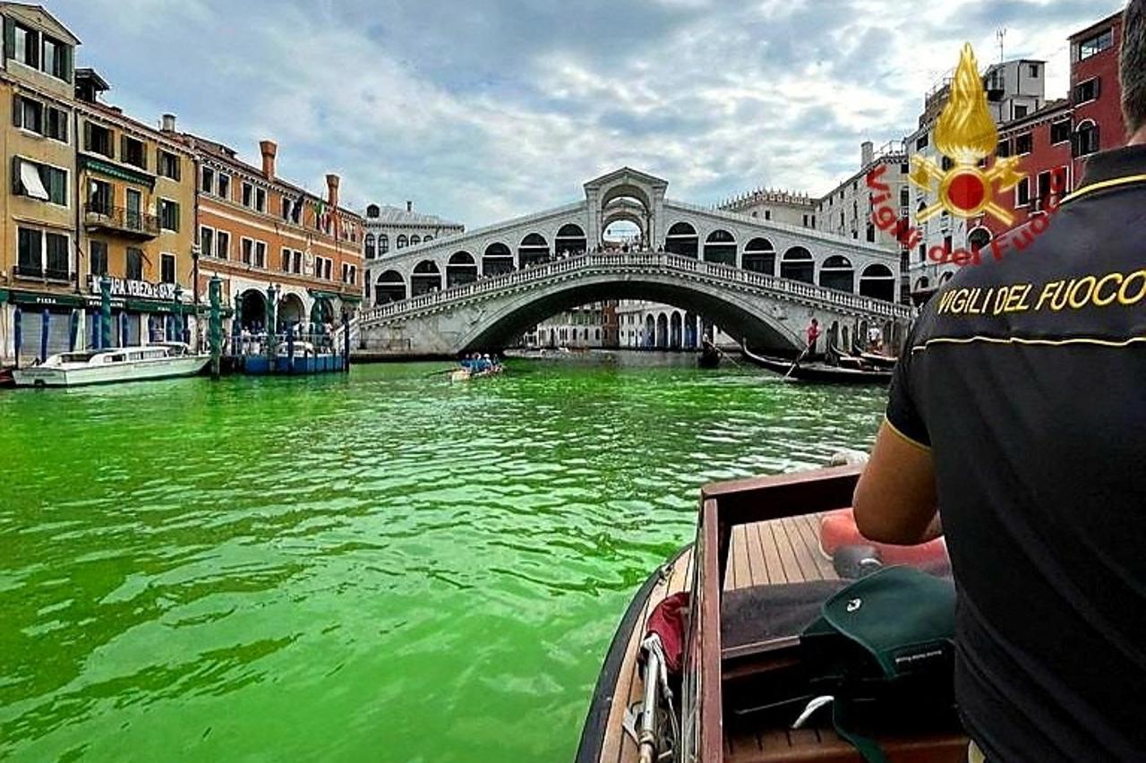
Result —
<path fill-rule="evenodd" d="M 630 165 L 716 203 L 825 194 L 859 142 L 912 129 L 971 41 L 1050 62 L 1117 0 L 46 0 L 108 101 L 312 190 L 477 227 L 575 200 Z M 941 8 L 941 9 L 940 9 Z"/>

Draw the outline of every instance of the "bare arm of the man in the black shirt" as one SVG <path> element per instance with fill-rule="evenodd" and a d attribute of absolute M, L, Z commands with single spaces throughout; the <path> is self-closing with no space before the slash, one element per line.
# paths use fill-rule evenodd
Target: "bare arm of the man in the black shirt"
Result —
<path fill-rule="evenodd" d="M 851 505 L 856 526 L 870 541 L 916 545 L 939 537 L 931 449 L 885 422 Z"/>

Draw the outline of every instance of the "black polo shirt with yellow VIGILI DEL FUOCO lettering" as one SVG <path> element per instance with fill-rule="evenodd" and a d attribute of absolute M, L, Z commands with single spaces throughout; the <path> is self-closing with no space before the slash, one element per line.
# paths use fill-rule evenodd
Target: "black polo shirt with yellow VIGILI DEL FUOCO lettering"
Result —
<path fill-rule="evenodd" d="M 1146 147 L 1029 238 L 927 304 L 887 418 L 932 450 L 988 758 L 1146 761 Z"/>

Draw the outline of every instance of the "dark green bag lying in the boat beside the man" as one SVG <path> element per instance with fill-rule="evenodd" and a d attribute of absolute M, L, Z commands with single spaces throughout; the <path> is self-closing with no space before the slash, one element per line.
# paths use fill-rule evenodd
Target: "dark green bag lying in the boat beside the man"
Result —
<path fill-rule="evenodd" d="M 837 732 L 869 763 L 886 761 L 877 734 L 959 729 L 950 581 L 884 567 L 824 601 L 800 642 L 821 699 L 798 725 L 830 701 Z"/>

